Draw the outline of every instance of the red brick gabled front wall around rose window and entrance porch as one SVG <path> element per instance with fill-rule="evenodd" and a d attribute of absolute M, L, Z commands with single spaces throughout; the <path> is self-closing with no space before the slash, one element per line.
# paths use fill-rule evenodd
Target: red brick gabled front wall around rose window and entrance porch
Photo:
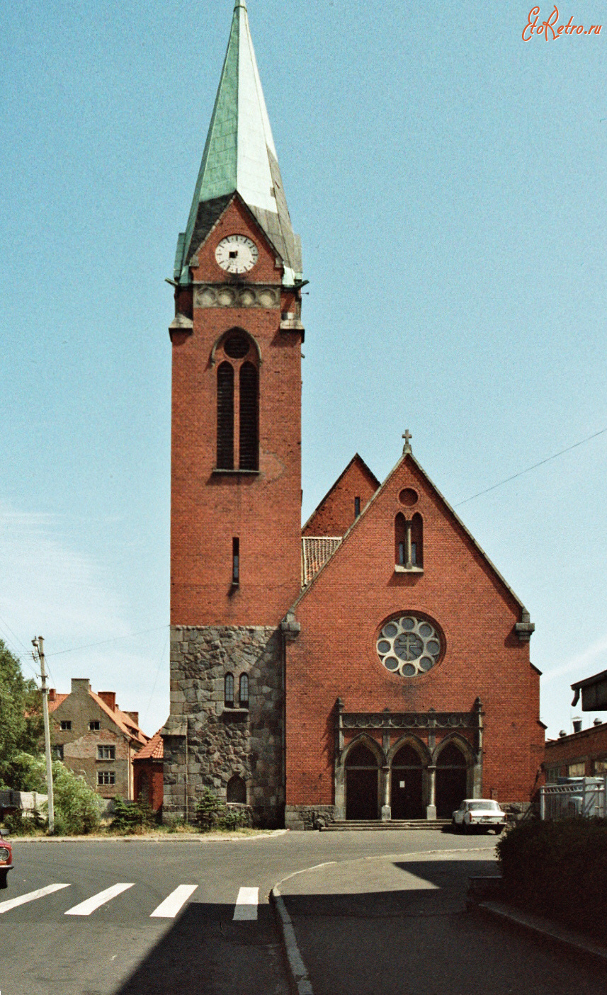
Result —
<path fill-rule="evenodd" d="M 423 572 L 395 571 L 394 520 L 405 488 L 419 496 Z M 444 635 L 444 658 L 423 676 L 393 676 L 379 661 L 379 629 L 397 612 L 426 616 Z M 529 800 L 543 730 L 538 673 L 514 630 L 520 605 L 413 461 L 389 479 L 295 615 L 302 630 L 287 649 L 288 808 L 333 802 L 336 697 L 347 711 L 407 712 L 470 711 L 481 697 L 483 794 Z"/>

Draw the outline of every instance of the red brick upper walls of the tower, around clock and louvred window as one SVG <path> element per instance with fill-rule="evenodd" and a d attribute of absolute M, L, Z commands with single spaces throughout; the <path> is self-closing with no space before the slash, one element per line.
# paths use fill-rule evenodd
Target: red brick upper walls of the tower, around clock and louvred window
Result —
<path fill-rule="evenodd" d="M 171 621 L 174 625 L 278 625 L 300 589 L 301 335 L 281 331 L 299 306 L 281 287 L 276 256 L 235 199 L 198 254 L 194 281 L 230 288 L 217 244 L 244 234 L 259 262 L 238 286 L 274 289 L 274 306 L 196 306 L 192 334 L 173 334 Z M 183 298 L 183 295 L 180 296 Z M 183 300 L 180 303 L 186 308 Z M 213 347 L 229 329 L 259 346 L 259 474 L 214 473 L 217 364 Z M 232 585 L 232 540 L 240 538 L 240 586 Z M 280 549 L 280 555 L 277 550 Z"/>

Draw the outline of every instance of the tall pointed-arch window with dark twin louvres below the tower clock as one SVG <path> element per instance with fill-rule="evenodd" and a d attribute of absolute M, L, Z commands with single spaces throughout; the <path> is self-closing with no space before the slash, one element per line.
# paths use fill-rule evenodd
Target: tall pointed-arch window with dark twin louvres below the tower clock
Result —
<path fill-rule="evenodd" d="M 238 328 L 217 349 L 217 469 L 259 470 L 259 354 Z"/>

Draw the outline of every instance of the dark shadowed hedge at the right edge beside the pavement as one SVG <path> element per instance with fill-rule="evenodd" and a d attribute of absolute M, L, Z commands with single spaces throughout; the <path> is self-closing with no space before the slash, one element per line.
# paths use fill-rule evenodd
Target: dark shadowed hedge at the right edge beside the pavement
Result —
<path fill-rule="evenodd" d="M 607 939 L 607 820 L 515 826 L 500 841 L 505 896 Z"/>

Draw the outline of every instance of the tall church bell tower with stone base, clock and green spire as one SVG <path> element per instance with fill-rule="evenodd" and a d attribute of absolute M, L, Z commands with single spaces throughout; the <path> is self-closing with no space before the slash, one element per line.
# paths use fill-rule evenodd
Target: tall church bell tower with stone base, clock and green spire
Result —
<path fill-rule="evenodd" d="M 244 0 L 173 285 L 164 807 L 191 818 L 208 787 L 276 822 L 280 624 L 301 587 L 303 275 Z"/>

